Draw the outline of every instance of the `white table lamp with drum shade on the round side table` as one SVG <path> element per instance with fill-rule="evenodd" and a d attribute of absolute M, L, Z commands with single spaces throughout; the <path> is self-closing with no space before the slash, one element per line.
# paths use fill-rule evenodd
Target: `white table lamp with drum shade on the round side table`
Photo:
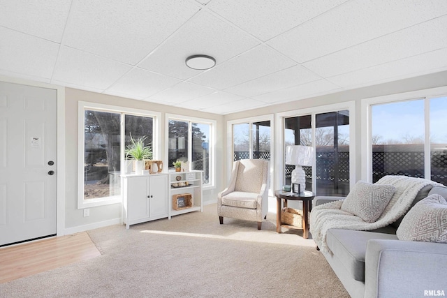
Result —
<path fill-rule="evenodd" d="M 312 166 L 314 162 L 314 148 L 309 146 L 293 145 L 286 147 L 286 165 L 295 165 L 292 171 L 293 184 L 300 184 L 300 192 L 306 189 L 306 173 L 302 166 Z"/>

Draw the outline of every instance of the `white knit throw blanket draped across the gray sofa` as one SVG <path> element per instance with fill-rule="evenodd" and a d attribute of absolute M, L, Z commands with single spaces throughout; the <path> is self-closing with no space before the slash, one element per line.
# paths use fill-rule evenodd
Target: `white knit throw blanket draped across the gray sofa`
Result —
<path fill-rule="evenodd" d="M 342 200 L 322 204 L 312 209 L 309 223 L 310 232 L 312 239 L 322 252 L 331 253 L 326 244 L 326 233 L 329 229 L 367 231 L 386 227 L 405 214 L 424 186 L 429 184 L 442 186 L 442 184 L 431 180 L 406 176 L 385 176 L 376 184 L 393 185 L 395 193 L 379 219 L 374 223 L 367 223 L 358 216 L 340 210 Z"/>

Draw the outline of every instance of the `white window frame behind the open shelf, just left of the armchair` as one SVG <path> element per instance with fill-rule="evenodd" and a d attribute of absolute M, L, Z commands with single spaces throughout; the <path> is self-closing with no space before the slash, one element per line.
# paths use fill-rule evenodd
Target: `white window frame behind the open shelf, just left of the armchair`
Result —
<path fill-rule="evenodd" d="M 203 184 L 203 190 L 216 188 L 216 144 L 217 144 L 217 121 L 213 119 L 206 118 L 198 118 L 198 117 L 189 117 L 179 114 L 166 114 L 165 115 L 165 148 L 164 148 L 164 158 L 163 163 L 166 165 L 166 169 L 169 167 L 168 165 L 168 156 L 169 156 L 169 121 L 185 121 L 188 122 L 188 161 L 191 161 L 192 156 L 192 146 L 193 142 L 191 126 L 193 123 L 200 124 L 209 124 L 210 125 L 210 142 L 208 143 L 210 146 L 210 183 Z M 191 165 L 191 164 L 190 164 Z"/>

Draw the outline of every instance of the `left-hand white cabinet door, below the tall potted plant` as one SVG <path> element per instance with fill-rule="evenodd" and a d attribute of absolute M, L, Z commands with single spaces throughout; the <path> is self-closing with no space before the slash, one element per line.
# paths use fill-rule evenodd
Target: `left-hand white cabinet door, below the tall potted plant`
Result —
<path fill-rule="evenodd" d="M 127 210 L 129 221 L 149 217 L 149 194 L 147 177 L 132 177 L 127 189 Z"/>

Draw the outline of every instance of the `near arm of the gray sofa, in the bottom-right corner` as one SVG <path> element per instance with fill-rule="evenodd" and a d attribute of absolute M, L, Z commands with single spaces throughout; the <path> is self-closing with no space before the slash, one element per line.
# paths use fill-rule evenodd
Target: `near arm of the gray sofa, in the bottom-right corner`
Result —
<path fill-rule="evenodd" d="M 446 268 L 447 244 L 369 240 L 365 255 L 365 297 L 447 295 Z"/>

